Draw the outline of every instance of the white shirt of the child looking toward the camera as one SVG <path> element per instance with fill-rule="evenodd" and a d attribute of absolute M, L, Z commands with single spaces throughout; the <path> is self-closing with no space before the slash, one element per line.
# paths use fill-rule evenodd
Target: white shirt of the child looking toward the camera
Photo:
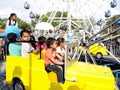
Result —
<path fill-rule="evenodd" d="M 21 56 L 22 57 L 29 57 L 30 52 L 34 50 L 34 48 L 29 43 L 22 43 L 21 46 Z"/>

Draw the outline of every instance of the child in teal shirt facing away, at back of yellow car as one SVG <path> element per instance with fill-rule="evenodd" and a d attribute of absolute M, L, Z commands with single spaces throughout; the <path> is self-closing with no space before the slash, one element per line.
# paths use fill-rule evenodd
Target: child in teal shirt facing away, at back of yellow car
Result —
<path fill-rule="evenodd" d="M 9 42 L 11 42 L 9 43 L 9 46 L 8 46 L 9 54 L 12 56 L 21 56 L 21 45 L 15 42 L 17 35 L 14 33 L 9 33 L 7 35 L 7 38 Z"/>

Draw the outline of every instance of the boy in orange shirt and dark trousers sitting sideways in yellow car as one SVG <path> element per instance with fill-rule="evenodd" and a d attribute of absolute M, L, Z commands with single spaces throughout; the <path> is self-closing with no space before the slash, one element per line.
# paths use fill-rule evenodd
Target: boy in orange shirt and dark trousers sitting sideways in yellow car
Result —
<path fill-rule="evenodd" d="M 57 53 L 56 53 L 56 40 L 54 38 L 48 38 L 46 41 L 47 44 L 47 51 L 44 55 L 44 61 L 45 61 L 45 68 L 48 72 L 53 71 L 57 74 L 58 77 L 58 83 L 63 83 L 64 78 L 63 78 L 63 70 L 59 65 L 63 65 L 63 62 L 59 62 L 57 60 Z"/>

